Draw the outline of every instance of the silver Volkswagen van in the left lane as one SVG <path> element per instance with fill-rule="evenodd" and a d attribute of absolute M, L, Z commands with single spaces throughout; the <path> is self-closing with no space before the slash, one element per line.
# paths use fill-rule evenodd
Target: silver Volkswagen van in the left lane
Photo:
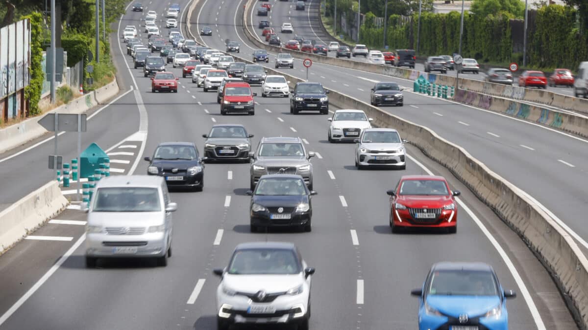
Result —
<path fill-rule="evenodd" d="M 98 258 L 156 258 L 172 255 L 172 203 L 161 176 L 111 176 L 96 184 L 86 224 L 86 267 Z"/>

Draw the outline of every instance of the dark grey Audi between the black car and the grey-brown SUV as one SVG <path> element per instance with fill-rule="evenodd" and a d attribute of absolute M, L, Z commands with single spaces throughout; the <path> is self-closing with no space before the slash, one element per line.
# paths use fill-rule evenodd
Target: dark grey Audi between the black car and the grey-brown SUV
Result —
<path fill-rule="evenodd" d="M 202 134 L 204 154 L 209 160 L 245 160 L 249 161 L 251 138 L 245 126 L 240 124 L 217 124 L 211 132 Z"/>

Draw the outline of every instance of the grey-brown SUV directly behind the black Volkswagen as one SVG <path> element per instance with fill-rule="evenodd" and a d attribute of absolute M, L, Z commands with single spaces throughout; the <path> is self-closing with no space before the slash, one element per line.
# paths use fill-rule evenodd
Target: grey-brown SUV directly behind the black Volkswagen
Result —
<path fill-rule="evenodd" d="M 263 137 L 255 153 L 250 152 L 251 190 L 265 174 L 298 174 L 312 190 L 313 151 L 306 151 L 300 137 Z"/>

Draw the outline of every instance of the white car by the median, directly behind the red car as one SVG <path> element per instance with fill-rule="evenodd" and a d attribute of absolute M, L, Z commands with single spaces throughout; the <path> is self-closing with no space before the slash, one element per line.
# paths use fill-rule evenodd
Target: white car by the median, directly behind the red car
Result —
<path fill-rule="evenodd" d="M 359 136 L 355 150 L 355 167 L 386 166 L 406 169 L 406 140 L 400 139 L 395 129 L 365 129 Z"/>

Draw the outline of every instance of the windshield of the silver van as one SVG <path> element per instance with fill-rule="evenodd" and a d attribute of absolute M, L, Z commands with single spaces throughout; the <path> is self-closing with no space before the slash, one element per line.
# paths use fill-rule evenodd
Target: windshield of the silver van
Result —
<path fill-rule="evenodd" d="M 93 212 L 157 212 L 161 211 L 157 188 L 104 187 L 94 196 Z"/>

